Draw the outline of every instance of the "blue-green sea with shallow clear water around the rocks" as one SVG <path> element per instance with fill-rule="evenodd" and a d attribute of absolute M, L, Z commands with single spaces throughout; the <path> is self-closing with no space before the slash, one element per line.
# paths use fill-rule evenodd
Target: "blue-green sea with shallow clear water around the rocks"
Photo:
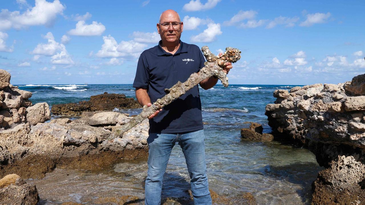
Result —
<path fill-rule="evenodd" d="M 33 104 L 54 104 L 89 100 L 108 93 L 134 97 L 131 84 L 18 85 L 33 93 Z M 265 106 L 274 103 L 276 89 L 290 90 L 300 85 L 229 85 L 199 88 L 202 104 L 207 176 L 210 189 L 220 196 L 240 198 L 250 192 L 258 204 L 307 205 L 311 203 L 311 183 L 323 167 L 305 147 L 285 142 L 256 142 L 241 138 L 246 121 L 261 123 L 270 133 Z M 132 115 L 141 109 L 115 109 Z M 52 115 L 52 118 L 59 116 Z M 74 119 L 74 118 L 72 118 Z M 147 160 L 123 161 L 103 171 L 56 168 L 42 179 L 27 179 L 37 186 L 42 205 L 77 202 L 95 204 L 100 197 L 134 195 L 143 198 Z M 180 146 L 173 148 L 166 169 L 162 196 L 182 197 L 190 188 L 189 174 Z"/>

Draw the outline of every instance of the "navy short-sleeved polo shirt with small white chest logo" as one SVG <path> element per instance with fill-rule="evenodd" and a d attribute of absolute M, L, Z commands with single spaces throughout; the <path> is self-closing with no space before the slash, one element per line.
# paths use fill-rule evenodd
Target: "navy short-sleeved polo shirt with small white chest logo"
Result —
<path fill-rule="evenodd" d="M 143 51 L 138 60 L 134 88 L 146 88 L 151 102 L 166 95 L 177 81 L 185 82 L 192 73 L 204 67 L 204 56 L 196 45 L 180 40 L 180 48 L 174 55 L 157 46 Z M 203 129 L 201 102 L 198 86 L 162 108 L 150 119 L 149 133 L 175 133 Z"/>

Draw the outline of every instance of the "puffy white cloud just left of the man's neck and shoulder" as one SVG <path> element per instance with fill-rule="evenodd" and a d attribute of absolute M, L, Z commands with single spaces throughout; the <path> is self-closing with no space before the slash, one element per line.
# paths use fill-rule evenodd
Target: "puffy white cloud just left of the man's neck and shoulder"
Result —
<path fill-rule="evenodd" d="M 143 50 L 147 47 L 144 43 L 138 43 L 134 40 L 122 41 L 119 44 L 111 36 L 103 36 L 104 44 L 101 50 L 97 51 L 96 57 L 100 58 L 137 58 Z"/>

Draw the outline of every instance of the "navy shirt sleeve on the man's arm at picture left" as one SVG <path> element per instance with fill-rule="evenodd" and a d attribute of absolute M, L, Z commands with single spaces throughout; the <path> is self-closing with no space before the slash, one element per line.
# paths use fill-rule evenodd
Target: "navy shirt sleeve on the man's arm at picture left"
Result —
<path fill-rule="evenodd" d="M 139 56 L 136 76 L 133 82 L 133 88 L 148 88 L 150 81 L 150 74 L 148 64 L 143 54 Z"/>

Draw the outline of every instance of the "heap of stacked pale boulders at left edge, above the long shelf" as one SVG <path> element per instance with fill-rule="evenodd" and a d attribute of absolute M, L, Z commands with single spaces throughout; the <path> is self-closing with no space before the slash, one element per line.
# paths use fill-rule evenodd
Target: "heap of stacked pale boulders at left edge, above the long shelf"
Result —
<path fill-rule="evenodd" d="M 48 104 L 43 102 L 32 106 L 28 100 L 32 93 L 11 85 L 10 77 L 7 71 L 0 69 L 0 128 L 27 122 L 35 125 L 51 119 Z"/>

